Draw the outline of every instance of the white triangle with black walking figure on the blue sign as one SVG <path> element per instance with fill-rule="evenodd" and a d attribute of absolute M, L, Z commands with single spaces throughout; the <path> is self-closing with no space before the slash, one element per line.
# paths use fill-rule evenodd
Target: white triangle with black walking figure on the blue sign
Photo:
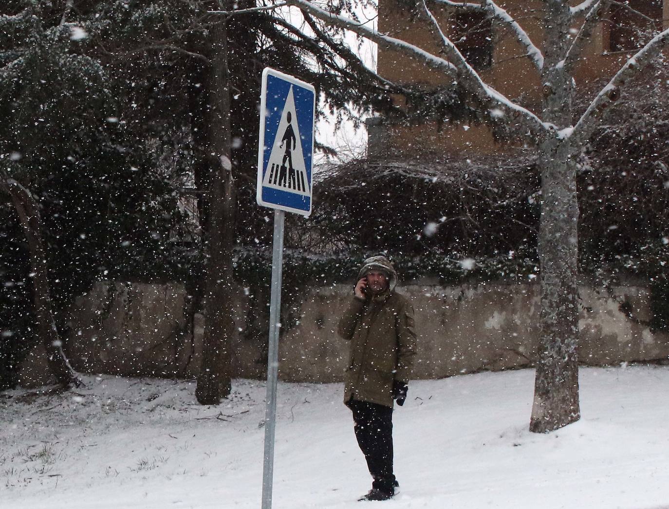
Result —
<path fill-rule="evenodd" d="M 311 193 L 310 189 L 306 187 L 307 179 L 302 144 L 298 142 L 300 140 L 300 127 L 297 122 L 293 121 L 296 117 L 295 99 L 291 85 L 281 114 L 277 135 L 274 138 L 274 146 L 272 146 L 270 152 L 269 171 L 266 171 L 262 185 L 308 196 Z"/>

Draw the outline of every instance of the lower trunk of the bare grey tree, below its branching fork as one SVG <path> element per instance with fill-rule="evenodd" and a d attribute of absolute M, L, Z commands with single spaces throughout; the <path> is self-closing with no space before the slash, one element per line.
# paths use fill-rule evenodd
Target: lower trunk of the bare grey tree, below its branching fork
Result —
<path fill-rule="evenodd" d="M 578 203 L 569 146 L 541 150 L 541 332 L 530 431 L 547 433 L 580 418 L 578 381 Z"/>

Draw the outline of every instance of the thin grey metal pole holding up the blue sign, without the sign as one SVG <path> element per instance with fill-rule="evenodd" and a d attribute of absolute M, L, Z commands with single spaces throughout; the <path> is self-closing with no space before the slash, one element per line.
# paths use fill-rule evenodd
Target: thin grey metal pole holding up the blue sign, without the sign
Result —
<path fill-rule="evenodd" d="M 270 348 L 267 354 L 267 397 L 265 407 L 265 455 L 262 470 L 262 509 L 272 508 L 274 474 L 274 429 L 276 425 L 276 384 L 279 367 L 279 327 L 281 310 L 281 270 L 284 259 L 284 215 L 274 211 L 272 245 L 272 293 L 270 298 Z"/>

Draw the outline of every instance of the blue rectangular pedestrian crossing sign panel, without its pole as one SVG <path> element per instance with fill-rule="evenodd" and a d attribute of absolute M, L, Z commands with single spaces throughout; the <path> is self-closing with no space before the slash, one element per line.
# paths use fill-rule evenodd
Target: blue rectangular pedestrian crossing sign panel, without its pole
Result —
<path fill-rule="evenodd" d="M 316 92 L 271 68 L 262 73 L 261 90 L 258 205 L 309 215 Z"/>

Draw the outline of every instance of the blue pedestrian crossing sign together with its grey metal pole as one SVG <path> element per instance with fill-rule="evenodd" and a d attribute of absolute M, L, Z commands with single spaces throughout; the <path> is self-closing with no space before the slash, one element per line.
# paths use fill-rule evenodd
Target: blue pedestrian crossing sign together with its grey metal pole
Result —
<path fill-rule="evenodd" d="M 311 213 L 315 111 L 314 86 L 274 69 L 262 72 L 256 201 L 274 209 L 262 509 L 272 509 L 284 215 Z"/>

